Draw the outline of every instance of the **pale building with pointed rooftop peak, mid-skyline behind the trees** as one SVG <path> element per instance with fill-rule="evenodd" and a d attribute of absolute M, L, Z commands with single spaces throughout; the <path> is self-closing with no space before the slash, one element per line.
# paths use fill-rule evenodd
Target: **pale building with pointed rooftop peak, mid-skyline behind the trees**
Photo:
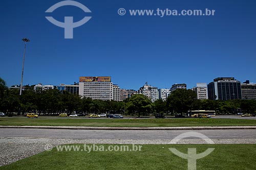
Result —
<path fill-rule="evenodd" d="M 143 94 L 147 96 L 149 99 L 151 99 L 152 102 L 155 102 L 156 100 L 159 99 L 158 88 L 148 85 L 147 82 L 143 87 L 139 89 L 139 94 Z"/>

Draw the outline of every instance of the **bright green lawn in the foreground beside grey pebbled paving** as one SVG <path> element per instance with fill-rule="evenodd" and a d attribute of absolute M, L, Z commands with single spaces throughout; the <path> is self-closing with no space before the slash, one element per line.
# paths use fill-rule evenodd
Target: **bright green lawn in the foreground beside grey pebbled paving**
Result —
<path fill-rule="evenodd" d="M 83 148 L 83 144 L 76 145 Z M 108 148 L 109 144 L 103 146 Z M 176 148 L 185 154 L 187 148 L 196 148 L 197 153 L 215 148 L 208 156 L 197 160 L 197 169 L 256 169 L 256 144 L 150 144 L 142 145 L 140 152 L 93 151 L 90 153 L 58 152 L 54 148 L 50 152 L 42 152 L 2 166 L 0 169 L 187 169 L 187 160 L 174 155 L 168 148 Z"/>

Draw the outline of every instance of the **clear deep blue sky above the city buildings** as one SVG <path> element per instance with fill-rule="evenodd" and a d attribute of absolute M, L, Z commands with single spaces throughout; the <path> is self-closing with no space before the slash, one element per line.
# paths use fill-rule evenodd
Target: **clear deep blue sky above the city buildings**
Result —
<path fill-rule="evenodd" d="M 145 82 L 158 88 L 174 83 L 209 83 L 234 77 L 256 83 L 256 2 L 243 0 L 78 0 L 92 13 L 64 6 L 45 11 L 56 0 L 1 1 L 0 77 L 8 86 L 20 84 L 27 45 L 23 84 L 73 84 L 80 76 L 111 76 L 120 88 L 139 89 Z M 129 9 L 214 9 L 215 16 L 130 16 Z M 49 22 L 53 16 L 79 21 L 74 38 Z"/>

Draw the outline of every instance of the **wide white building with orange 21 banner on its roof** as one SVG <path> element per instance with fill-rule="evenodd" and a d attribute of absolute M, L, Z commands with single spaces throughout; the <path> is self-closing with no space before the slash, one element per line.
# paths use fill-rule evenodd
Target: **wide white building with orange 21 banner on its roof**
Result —
<path fill-rule="evenodd" d="M 79 95 L 93 100 L 113 100 L 111 77 L 80 77 Z"/>

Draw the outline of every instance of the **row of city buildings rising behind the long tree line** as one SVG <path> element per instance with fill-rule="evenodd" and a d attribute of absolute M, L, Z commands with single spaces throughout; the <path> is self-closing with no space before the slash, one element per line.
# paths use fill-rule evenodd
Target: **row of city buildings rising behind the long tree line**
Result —
<path fill-rule="evenodd" d="M 32 85 L 33 87 L 33 85 Z M 10 87 L 10 88 L 18 88 Z M 21 88 L 20 88 L 21 89 Z M 30 88 L 31 89 L 31 88 Z M 79 83 L 74 85 L 60 84 L 59 86 L 37 84 L 33 87 L 34 91 L 39 89 L 65 90 L 72 94 L 79 94 L 81 98 L 91 98 L 93 100 L 114 100 L 123 101 L 130 98 L 133 94 L 143 94 L 151 99 L 152 102 L 161 99 L 165 101 L 168 96 L 177 89 L 187 89 L 186 84 L 174 84 L 170 89 L 153 87 L 147 82 L 139 90 L 121 89 L 117 84 L 111 82 L 111 77 L 80 77 Z M 40 91 L 39 90 L 39 91 Z M 204 100 L 233 100 L 233 99 L 256 99 L 256 84 L 249 80 L 240 82 L 233 77 L 218 77 L 207 83 L 197 83 L 191 88 L 197 94 L 197 99 Z"/>

